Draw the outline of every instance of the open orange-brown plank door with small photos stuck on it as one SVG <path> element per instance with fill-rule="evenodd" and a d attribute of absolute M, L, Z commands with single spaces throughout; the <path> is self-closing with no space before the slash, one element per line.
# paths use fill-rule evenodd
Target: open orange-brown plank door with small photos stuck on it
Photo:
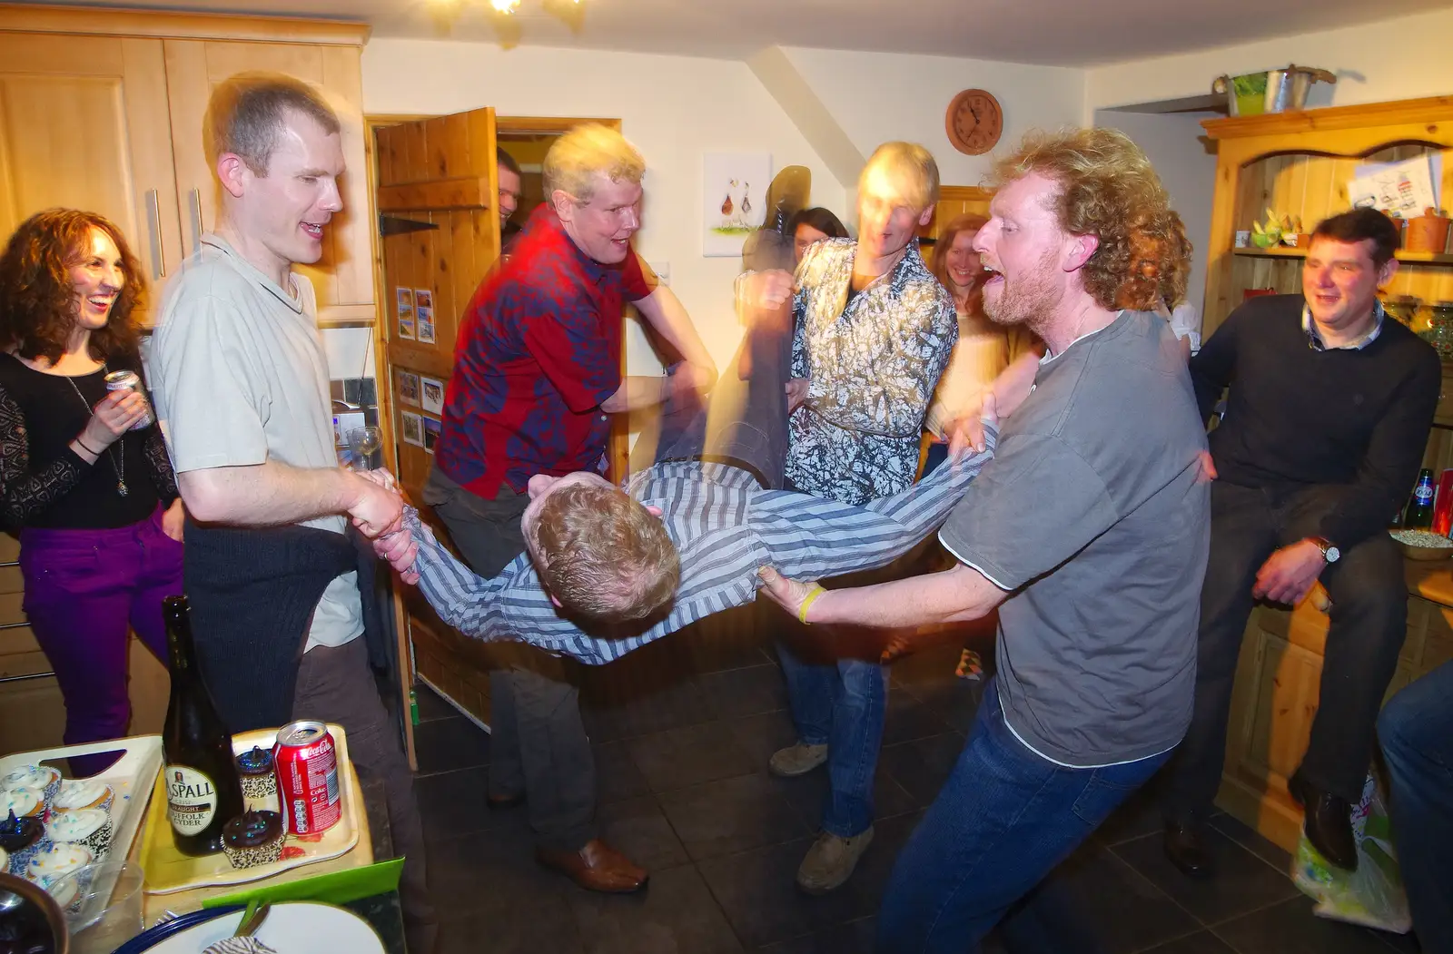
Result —
<path fill-rule="evenodd" d="M 433 465 L 459 317 L 500 256 L 494 110 L 378 128 L 375 163 L 384 232 L 379 417 L 392 425 L 400 484 L 448 540 L 420 489 Z M 487 723 L 490 646 L 445 626 L 416 588 L 407 587 L 402 601 L 417 674 Z"/>

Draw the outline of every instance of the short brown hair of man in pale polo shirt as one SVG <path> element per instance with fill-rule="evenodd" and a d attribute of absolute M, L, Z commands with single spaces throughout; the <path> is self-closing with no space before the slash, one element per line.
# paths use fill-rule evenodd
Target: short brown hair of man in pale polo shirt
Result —
<path fill-rule="evenodd" d="M 288 110 L 312 118 L 330 134 L 343 129 L 339 115 L 323 94 L 302 80 L 280 73 L 237 73 L 227 77 L 212 90 L 202 119 L 206 161 L 216 166 L 219 155 L 232 152 L 254 174 L 266 176 L 267 163 L 278 148 L 278 136 L 288 121 Z"/>

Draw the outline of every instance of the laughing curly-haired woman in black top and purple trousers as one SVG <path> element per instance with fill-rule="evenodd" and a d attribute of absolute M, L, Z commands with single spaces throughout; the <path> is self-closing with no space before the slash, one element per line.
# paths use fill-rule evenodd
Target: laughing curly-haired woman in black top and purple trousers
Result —
<path fill-rule="evenodd" d="M 25 613 L 65 698 L 65 743 L 126 733 L 128 624 L 166 659 L 182 501 L 142 391 L 144 283 L 121 229 L 49 209 L 0 256 L 0 523 L 19 531 Z M 74 765 L 73 765 L 74 768 Z"/>

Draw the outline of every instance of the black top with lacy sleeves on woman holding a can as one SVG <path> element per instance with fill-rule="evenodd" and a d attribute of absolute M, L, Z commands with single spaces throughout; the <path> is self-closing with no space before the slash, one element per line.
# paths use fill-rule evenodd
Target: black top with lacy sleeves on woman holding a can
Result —
<path fill-rule="evenodd" d="M 141 373 L 135 356 L 108 366 Z M 150 517 L 158 501 L 170 507 L 176 500 L 176 476 L 155 424 L 128 431 L 96 463 L 70 449 L 106 396 L 105 379 L 105 369 L 65 378 L 0 354 L 0 524 L 12 530 L 125 527 Z M 126 475 L 125 497 L 116 488 L 118 463 Z"/>

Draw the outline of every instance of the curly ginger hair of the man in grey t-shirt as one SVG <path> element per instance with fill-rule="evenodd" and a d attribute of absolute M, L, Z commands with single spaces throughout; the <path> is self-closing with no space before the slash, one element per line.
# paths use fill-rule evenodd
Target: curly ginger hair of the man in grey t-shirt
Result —
<path fill-rule="evenodd" d="M 1032 132 L 994 166 L 992 184 L 1039 174 L 1059 184 L 1055 213 L 1069 235 L 1098 247 L 1080 270 L 1101 308 L 1151 311 L 1186 296 L 1190 241 L 1151 160 L 1119 129 Z"/>

